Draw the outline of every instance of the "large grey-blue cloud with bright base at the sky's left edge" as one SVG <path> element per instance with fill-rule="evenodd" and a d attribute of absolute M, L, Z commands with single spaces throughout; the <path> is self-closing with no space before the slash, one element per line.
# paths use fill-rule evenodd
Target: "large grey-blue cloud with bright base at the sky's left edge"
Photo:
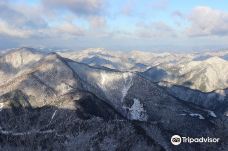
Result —
<path fill-rule="evenodd" d="M 83 36 L 84 30 L 77 25 L 61 21 L 50 26 L 39 6 L 0 3 L 0 36 L 12 38 L 69 38 Z"/>

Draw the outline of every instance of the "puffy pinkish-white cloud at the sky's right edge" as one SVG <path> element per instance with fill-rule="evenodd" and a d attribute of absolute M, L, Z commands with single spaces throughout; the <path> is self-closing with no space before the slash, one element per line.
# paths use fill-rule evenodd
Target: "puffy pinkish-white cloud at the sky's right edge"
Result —
<path fill-rule="evenodd" d="M 189 36 L 227 36 L 228 12 L 210 7 L 196 7 L 188 16 L 190 27 L 186 32 Z"/>

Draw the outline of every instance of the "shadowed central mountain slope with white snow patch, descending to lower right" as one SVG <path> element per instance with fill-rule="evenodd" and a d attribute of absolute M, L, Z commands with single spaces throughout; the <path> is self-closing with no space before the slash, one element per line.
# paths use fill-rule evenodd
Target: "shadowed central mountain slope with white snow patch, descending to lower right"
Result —
<path fill-rule="evenodd" d="M 162 133 L 163 137 L 160 135 L 157 137 L 151 132 L 155 127 L 152 126 L 152 129 L 147 126 L 143 127 L 144 130 L 148 130 L 146 134 L 155 140 L 171 136 L 173 133 L 169 133 L 169 130 L 195 136 L 208 135 L 202 134 L 201 129 L 213 131 L 217 117 L 212 111 L 195 106 L 191 102 L 188 104 L 176 99 L 158 85 L 135 73 L 101 70 L 72 61 L 68 63 L 85 81 L 84 89 L 104 98 L 124 117 L 130 120 L 152 122 L 155 127 L 160 125 L 158 127 L 163 132 L 159 131 L 159 133 Z M 197 126 L 193 123 L 197 123 Z M 185 126 L 191 129 L 181 129 Z M 142 128 L 141 124 L 140 127 Z M 167 141 L 164 141 L 162 145 L 166 149 L 172 148 Z"/>

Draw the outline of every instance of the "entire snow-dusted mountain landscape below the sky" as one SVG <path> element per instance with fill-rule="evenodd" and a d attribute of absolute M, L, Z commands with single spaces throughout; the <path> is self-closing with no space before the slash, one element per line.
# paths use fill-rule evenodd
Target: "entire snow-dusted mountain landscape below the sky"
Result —
<path fill-rule="evenodd" d="M 0 56 L 2 150 L 226 150 L 228 51 Z M 170 143 L 172 135 L 218 144 Z"/>

